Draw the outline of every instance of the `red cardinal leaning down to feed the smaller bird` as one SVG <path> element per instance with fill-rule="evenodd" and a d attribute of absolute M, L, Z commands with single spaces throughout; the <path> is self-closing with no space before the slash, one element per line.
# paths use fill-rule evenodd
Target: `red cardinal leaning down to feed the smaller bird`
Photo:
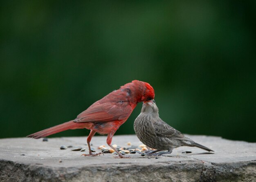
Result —
<path fill-rule="evenodd" d="M 154 89 L 149 83 L 134 80 L 93 103 L 87 110 L 80 113 L 76 119 L 44 129 L 27 137 L 37 139 L 63 132 L 67 129 L 86 128 L 90 129 L 91 132 L 87 138 L 89 154 L 83 154 L 84 156 L 97 156 L 101 154 L 93 154 L 90 147 L 92 136 L 97 132 L 99 134 L 108 134 L 107 144 L 121 158 L 126 158 L 111 145 L 112 137 L 117 129 L 126 122 L 137 103 L 154 99 L 154 97 Z"/>

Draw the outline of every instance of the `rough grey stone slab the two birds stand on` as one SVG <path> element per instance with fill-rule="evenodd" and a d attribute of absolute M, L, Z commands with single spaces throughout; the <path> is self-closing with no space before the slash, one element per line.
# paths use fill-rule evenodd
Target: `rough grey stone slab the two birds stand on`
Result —
<path fill-rule="evenodd" d="M 0 181 L 256 182 L 256 143 L 187 136 L 215 152 L 179 147 L 159 158 L 129 154 L 131 158 L 121 159 L 114 158 L 112 153 L 85 157 L 81 154 L 88 153 L 86 137 L 49 138 L 47 142 L 31 138 L 0 139 Z M 135 135 L 114 136 L 112 144 L 128 147 L 128 142 L 141 144 Z M 94 149 L 106 145 L 106 136 L 94 136 L 92 144 Z M 87 149 L 61 150 L 61 145 Z"/>

